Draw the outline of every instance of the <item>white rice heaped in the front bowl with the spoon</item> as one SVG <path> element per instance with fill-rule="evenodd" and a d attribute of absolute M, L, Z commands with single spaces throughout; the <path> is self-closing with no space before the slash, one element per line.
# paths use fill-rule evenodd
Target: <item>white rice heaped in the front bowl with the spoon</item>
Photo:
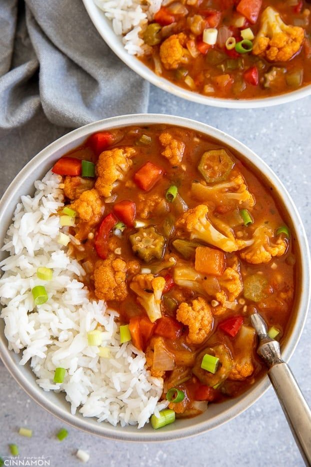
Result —
<path fill-rule="evenodd" d="M 36 181 L 33 197 L 22 196 L 16 207 L 2 250 L 9 256 L 0 262 L 0 303 L 8 348 L 21 352 L 37 384 L 45 391 L 65 392 L 83 416 L 98 421 L 138 424 L 166 406 L 158 402 L 162 378 L 150 376 L 145 356 L 131 343 L 120 345 L 117 312 L 103 301 L 90 301 L 87 288 L 78 279 L 85 272 L 57 243 L 60 232 L 57 210 L 63 206 L 61 177 L 51 172 Z M 51 281 L 36 277 L 39 266 L 53 270 Z M 48 300 L 35 307 L 31 289 L 44 285 Z M 89 346 L 87 332 L 102 326 L 102 346 L 110 358 L 98 357 L 98 347 Z M 55 368 L 66 369 L 64 382 L 53 382 Z"/>

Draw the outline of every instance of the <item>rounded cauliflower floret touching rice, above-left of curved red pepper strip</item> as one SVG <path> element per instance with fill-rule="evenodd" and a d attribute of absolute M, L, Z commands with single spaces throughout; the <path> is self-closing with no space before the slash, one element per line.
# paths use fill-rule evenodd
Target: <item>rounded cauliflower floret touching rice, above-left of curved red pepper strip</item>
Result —
<path fill-rule="evenodd" d="M 77 200 L 71 204 L 81 220 L 89 224 L 96 224 L 101 216 L 101 200 L 95 188 L 84 191 Z"/>

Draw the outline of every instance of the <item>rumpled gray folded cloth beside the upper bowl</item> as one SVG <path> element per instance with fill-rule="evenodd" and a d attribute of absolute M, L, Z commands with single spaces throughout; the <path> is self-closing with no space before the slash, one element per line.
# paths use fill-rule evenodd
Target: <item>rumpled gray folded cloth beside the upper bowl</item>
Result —
<path fill-rule="evenodd" d="M 145 112 L 148 83 L 92 25 L 81 0 L 0 0 L 0 136 L 40 112 L 61 127 Z"/>

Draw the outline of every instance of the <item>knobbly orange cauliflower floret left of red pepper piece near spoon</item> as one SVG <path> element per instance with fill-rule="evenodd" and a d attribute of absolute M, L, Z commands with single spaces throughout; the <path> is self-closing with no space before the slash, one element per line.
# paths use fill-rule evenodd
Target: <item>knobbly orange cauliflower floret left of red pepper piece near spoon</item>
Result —
<path fill-rule="evenodd" d="M 188 344 L 201 344 L 212 329 L 213 317 L 209 305 L 202 297 L 192 300 L 191 305 L 180 303 L 176 318 L 189 328 Z"/>

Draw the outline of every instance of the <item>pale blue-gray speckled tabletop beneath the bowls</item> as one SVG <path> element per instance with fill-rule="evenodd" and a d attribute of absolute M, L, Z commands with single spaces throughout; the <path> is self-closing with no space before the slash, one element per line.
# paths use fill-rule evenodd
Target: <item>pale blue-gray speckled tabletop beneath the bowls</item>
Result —
<path fill-rule="evenodd" d="M 190 117 L 220 128 L 238 138 L 264 159 L 280 177 L 292 196 L 310 240 L 311 237 L 311 97 L 284 106 L 257 110 L 226 110 L 191 104 L 151 88 L 149 112 Z M 10 134 L 16 145 L 18 159 L 1 154 L 0 186 L 3 191 L 9 180 L 40 148 L 40 139 L 33 138 L 33 127 Z M 37 116 L 36 132 L 45 142 L 63 133 L 51 133 L 42 115 Z M 36 133 L 37 134 L 37 133 Z M 311 316 L 308 317 L 290 366 L 311 404 Z M 55 432 L 62 423 L 29 400 L 0 364 L 0 456 L 8 455 L 7 444 L 15 442 L 21 456 L 49 458 L 50 465 L 78 465 L 77 448 L 90 454 L 87 465 L 147 466 L 175 465 L 198 467 L 255 466 L 266 464 L 303 465 L 276 396 L 269 389 L 246 412 L 225 425 L 181 441 L 156 444 L 122 443 L 99 439 L 69 428 L 68 438 L 60 443 Z M 33 428 L 31 439 L 17 434 L 20 425 Z"/>

